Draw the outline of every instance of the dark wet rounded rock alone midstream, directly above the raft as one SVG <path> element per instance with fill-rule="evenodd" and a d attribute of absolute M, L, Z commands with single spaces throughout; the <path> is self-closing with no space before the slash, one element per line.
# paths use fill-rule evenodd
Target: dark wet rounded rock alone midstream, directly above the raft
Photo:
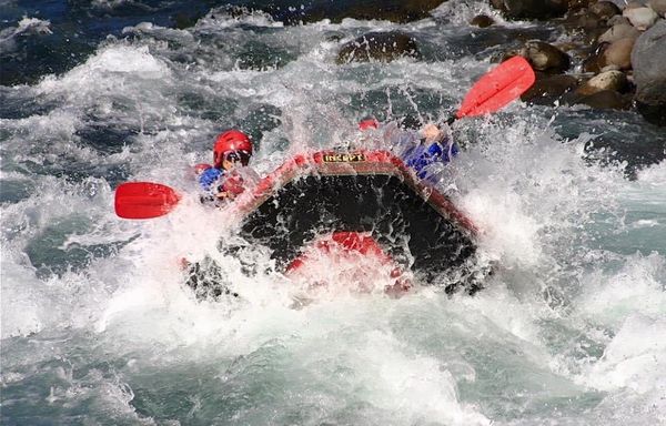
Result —
<path fill-rule="evenodd" d="M 404 32 L 369 32 L 347 43 L 337 53 L 337 63 L 390 62 L 402 57 L 421 58 L 416 40 Z"/>

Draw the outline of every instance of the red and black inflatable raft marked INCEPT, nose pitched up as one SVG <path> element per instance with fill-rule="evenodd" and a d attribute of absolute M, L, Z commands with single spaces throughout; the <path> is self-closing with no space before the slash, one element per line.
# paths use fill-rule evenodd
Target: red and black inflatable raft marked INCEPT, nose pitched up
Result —
<path fill-rule="evenodd" d="M 241 236 L 290 273 L 332 244 L 425 281 L 476 252 L 472 221 L 387 151 L 297 154 L 238 202 Z"/>

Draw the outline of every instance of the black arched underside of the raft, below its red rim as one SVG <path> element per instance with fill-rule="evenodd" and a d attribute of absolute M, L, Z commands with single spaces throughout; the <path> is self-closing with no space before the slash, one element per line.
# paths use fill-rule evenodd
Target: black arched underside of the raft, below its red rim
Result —
<path fill-rule="evenodd" d="M 461 266 L 476 251 L 468 230 L 389 174 L 299 178 L 251 212 L 241 235 L 285 267 L 334 231 L 370 232 L 396 262 L 427 275 Z"/>

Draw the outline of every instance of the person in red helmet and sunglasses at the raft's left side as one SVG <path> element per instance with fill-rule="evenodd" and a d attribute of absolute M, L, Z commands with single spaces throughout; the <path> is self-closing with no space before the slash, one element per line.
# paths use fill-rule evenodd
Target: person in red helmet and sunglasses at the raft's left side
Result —
<path fill-rule="evenodd" d="M 259 175 L 248 165 L 253 151 L 245 133 L 233 129 L 220 133 L 213 145 L 213 164 L 195 165 L 201 202 L 223 205 L 255 184 Z"/>

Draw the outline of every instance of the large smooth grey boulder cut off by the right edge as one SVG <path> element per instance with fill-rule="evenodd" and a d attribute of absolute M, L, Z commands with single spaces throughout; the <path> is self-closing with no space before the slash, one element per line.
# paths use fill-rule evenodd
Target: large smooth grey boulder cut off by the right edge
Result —
<path fill-rule="evenodd" d="M 636 103 L 643 116 L 666 125 L 666 21 L 645 31 L 632 52 Z"/>

